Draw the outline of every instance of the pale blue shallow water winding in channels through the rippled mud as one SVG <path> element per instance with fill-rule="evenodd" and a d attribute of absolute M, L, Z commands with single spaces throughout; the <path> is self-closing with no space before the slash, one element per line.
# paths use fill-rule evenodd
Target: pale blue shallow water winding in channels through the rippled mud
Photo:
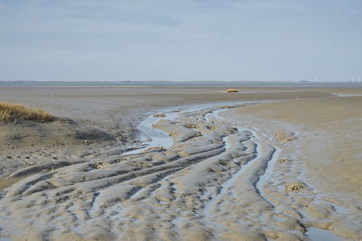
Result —
<path fill-rule="evenodd" d="M 245 102 L 221 103 L 219 105 L 242 105 L 242 104 L 247 104 L 247 103 L 245 103 Z M 186 113 L 190 114 L 195 111 L 206 110 L 207 108 L 213 108 L 213 107 L 215 109 L 214 110 L 212 109 L 210 113 L 205 115 L 205 121 L 212 123 L 213 120 L 220 120 L 220 121 L 223 120 L 223 117 L 221 117 L 219 115 L 227 109 L 217 108 L 217 107 L 215 107 L 215 104 L 204 104 L 204 105 L 197 105 L 197 106 L 193 106 L 193 107 L 168 108 L 168 109 L 165 109 L 164 112 L 162 112 L 165 115 L 164 117 L 162 117 L 162 116 L 156 117 L 156 116 L 152 116 L 152 115 L 147 116 L 147 118 L 138 125 L 138 129 L 144 134 L 142 141 L 145 142 L 146 146 L 133 150 L 133 151 L 130 151 L 130 152 L 127 152 L 127 153 L 123 153 L 123 154 L 142 153 L 144 150 L 148 149 L 149 147 L 157 147 L 157 146 L 164 147 L 164 148 L 171 147 L 173 145 L 172 137 L 169 136 L 166 132 L 159 130 L 157 128 L 154 128 L 153 127 L 154 124 L 157 124 L 160 120 L 171 120 L 172 121 L 172 120 L 176 119 L 176 117 L 185 115 Z M 243 131 L 249 131 L 252 133 L 252 140 L 257 144 L 257 150 L 258 150 L 257 151 L 258 155 L 252 161 L 257 160 L 259 158 L 259 155 L 262 152 L 260 150 L 260 144 L 259 144 L 261 141 L 260 137 L 253 130 L 247 129 L 243 126 L 236 126 L 236 128 L 238 129 L 239 133 L 243 132 Z M 225 146 L 224 146 L 225 151 L 227 151 L 231 145 L 228 140 L 228 137 L 229 136 L 225 136 L 223 138 L 223 141 L 225 144 Z M 271 200 L 268 199 L 268 196 L 263 191 L 264 183 L 266 181 L 270 181 L 273 166 L 275 165 L 275 162 L 277 162 L 277 160 L 279 158 L 279 154 L 281 153 L 281 149 L 279 147 L 272 146 L 272 148 L 274 148 L 274 151 L 271 154 L 271 159 L 268 160 L 265 170 L 263 171 L 262 175 L 259 176 L 259 180 L 256 182 L 255 188 L 260 193 L 260 195 L 262 196 L 263 199 L 267 200 L 268 202 L 270 202 L 273 205 Z M 248 162 L 239 171 L 234 173 L 232 178 L 230 178 L 228 181 L 224 182 L 222 190 L 220 191 L 220 193 L 218 195 L 219 198 L 222 198 L 224 193 L 226 193 L 227 191 L 229 191 L 231 189 L 231 187 L 233 186 L 233 182 L 236 181 L 238 177 L 243 175 L 243 171 L 247 170 L 248 167 L 252 165 L 252 161 Z M 212 216 L 212 213 L 209 212 L 208 210 L 212 209 L 212 207 L 214 206 L 214 204 L 217 201 L 218 201 L 218 199 L 215 198 L 215 199 L 210 200 L 205 205 L 205 212 L 204 212 L 205 219 L 207 219 L 207 217 L 209 217 L 209 216 L 210 217 Z M 278 208 L 275 207 L 275 209 L 278 212 Z M 225 228 L 223 226 L 220 226 L 219 224 L 214 224 L 214 227 L 218 227 L 221 229 Z M 309 227 L 307 229 L 307 232 L 305 235 L 308 236 L 311 240 L 317 240 L 317 241 L 319 241 L 319 240 L 331 240 L 331 241 L 343 240 L 343 238 L 334 235 L 332 232 L 330 232 L 328 230 L 320 229 L 318 227 Z"/>

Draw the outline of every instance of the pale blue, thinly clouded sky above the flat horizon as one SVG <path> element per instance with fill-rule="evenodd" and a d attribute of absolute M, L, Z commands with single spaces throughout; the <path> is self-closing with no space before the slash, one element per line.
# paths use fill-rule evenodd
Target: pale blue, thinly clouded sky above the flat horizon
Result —
<path fill-rule="evenodd" d="M 0 0 L 0 79 L 362 80 L 362 1 Z"/>

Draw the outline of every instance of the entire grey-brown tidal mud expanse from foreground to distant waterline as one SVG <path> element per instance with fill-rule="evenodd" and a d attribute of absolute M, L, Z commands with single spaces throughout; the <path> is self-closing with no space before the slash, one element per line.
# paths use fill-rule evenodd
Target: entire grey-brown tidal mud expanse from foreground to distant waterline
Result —
<path fill-rule="evenodd" d="M 0 88 L 2 101 L 74 121 L 1 126 L 0 237 L 304 240 L 318 227 L 361 238 L 362 99 L 332 95 L 360 88 L 223 90 Z M 167 148 L 139 138 L 147 113 Z"/>

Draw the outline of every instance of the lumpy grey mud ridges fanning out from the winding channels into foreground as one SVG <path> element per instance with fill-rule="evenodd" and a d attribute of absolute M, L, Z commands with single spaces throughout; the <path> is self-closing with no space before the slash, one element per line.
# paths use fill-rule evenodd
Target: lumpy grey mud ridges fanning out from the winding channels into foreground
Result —
<path fill-rule="evenodd" d="M 151 146 L 116 158 L 105 153 L 14 172 L 14 178 L 26 177 L 1 192 L 1 236 L 298 240 L 308 227 L 337 225 L 349 237 L 361 235 L 361 215 L 347 218 L 353 208 L 319 201 L 304 184 L 292 193 L 281 188 L 291 181 L 282 179 L 291 165 L 276 162 L 277 150 L 292 139 L 278 145 L 218 116 L 227 110 L 207 107 L 172 119 L 157 114 L 154 128 L 173 139 L 167 149 Z"/>

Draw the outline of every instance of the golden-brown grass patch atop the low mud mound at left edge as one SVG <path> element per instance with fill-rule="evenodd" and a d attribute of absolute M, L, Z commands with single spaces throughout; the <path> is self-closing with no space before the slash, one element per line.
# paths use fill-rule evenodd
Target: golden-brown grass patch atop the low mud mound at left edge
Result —
<path fill-rule="evenodd" d="M 50 122 L 53 116 L 41 109 L 27 108 L 20 104 L 0 102 L 0 122 L 15 123 L 19 120 Z"/>

